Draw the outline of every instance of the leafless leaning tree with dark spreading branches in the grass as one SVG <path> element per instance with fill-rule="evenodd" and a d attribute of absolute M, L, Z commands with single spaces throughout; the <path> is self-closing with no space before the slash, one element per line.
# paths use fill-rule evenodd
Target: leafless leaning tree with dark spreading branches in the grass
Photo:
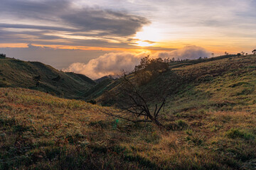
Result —
<path fill-rule="evenodd" d="M 159 113 L 164 108 L 166 96 L 161 96 L 160 102 L 156 103 L 154 107 L 150 107 L 149 93 L 152 93 L 152 91 L 139 89 L 139 86 L 124 74 L 119 89 L 112 95 L 117 109 L 102 108 L 101 111 L 112 117 L 122 118 L 133 123 L 151 122 L 158 125 L 159 128 L 164 128 L 164 125 L 159 121 Z M 110 98 L 110 94 L 107 97 Z"/>

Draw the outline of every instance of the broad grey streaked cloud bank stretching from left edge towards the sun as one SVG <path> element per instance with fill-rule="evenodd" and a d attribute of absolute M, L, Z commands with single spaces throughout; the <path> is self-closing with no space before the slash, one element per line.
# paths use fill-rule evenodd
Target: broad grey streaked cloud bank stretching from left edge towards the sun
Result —
<path fill-rule="evenodd" d="M 68 0 L 1 0 L 0 41 L 41 45 L 133 47 L 147 18 Z M 15 21 L 15 22 L 14 22 Z"/>

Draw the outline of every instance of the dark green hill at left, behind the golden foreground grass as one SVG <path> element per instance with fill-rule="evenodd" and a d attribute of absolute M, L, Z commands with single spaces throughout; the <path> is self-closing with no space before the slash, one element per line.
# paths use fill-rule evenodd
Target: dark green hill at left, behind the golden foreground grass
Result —
<path fill-rule="evenodd" d="M 38 85 L 35 77 L 40 76 Z M 48 92 L 65 98 L 83 98 L 95 82 L 82 74 L 61 72 L 41 62 L 23 62 L 0 58 L 0 86 L 23 87 Z"/>

